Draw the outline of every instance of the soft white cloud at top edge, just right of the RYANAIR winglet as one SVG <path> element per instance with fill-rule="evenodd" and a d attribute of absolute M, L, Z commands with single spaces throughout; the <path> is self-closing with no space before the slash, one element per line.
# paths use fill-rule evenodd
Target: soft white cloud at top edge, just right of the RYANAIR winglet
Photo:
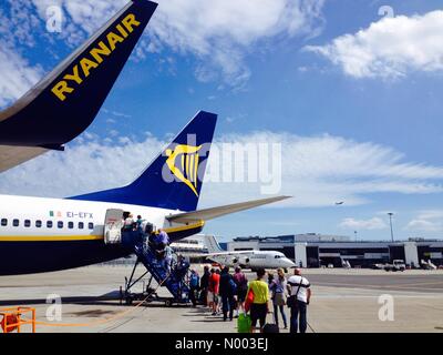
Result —
<path fill-rule="evenodd" d="M 202 81 L 223 78 L 241 85 L 250 77 L 244 57 L 260 40 L 277 36 L 313 36 L 322 26 L 323 0 L 166 0 L 150 27 L 161 47 L 202 59 Z M 157 48 L 158 48 L 157 45 Z"/>

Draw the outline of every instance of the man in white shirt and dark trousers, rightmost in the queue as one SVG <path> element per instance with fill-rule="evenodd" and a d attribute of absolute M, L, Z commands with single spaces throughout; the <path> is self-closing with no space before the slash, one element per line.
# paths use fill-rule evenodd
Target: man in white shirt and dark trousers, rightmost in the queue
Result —
<path fill-rule="evenodd" d="M 293 271 L 293 276 L 288 278 L 288 292 L 292 298 L 289 333 L 297 333 L 300 322 L 300 333 L 306 333 L 308 326 L 307 306 L 311 298 L 311 288 L 308 278 L 301 276 L 300 268 Z"/>

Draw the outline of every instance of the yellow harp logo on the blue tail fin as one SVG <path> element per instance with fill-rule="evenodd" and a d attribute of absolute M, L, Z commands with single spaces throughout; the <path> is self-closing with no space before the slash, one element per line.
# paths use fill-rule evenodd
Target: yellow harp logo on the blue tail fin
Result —
<path fill-rule="evenodd" d="M 166 164 L 171 172 L 179 181 L 184 182 L 198 197 L 197 193 L 197 181 L 198 181 L 198 151 L 199 146 L 192 146 L 185 144 L 178 144 L 174 150 L 166 150 Z M 177 166 L 178 164 L 178 166 Z"/>

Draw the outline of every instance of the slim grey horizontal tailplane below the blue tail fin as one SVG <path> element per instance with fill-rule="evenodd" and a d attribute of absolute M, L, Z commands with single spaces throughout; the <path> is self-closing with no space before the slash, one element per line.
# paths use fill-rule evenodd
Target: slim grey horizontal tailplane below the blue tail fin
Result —
<path fill-rule="evenodd" d="M 208 220 L 213 220 L 213 219 L 226 215 L 226 214 L 254 209 L 254 207 L 261 206 L 261 205 L 265 205 L 268 203 L 282 201 L 282 200 L 286 200 L 290 196 L 276 196 L 276 197 L 254 200 L 254 201 L 241 202 L 241 203 L 234 203 L 234 204 L 228 204 L 228 205 L 218 206 L 218 207 L 197 210 L 194 212 L 172 214 L 172 215 L 166 216 L 166 219 L 169 222 L 176 222 L 176 223 L 193 223 L 193 222 L 198 222 L 198 221 L 208 221 Z"/>

